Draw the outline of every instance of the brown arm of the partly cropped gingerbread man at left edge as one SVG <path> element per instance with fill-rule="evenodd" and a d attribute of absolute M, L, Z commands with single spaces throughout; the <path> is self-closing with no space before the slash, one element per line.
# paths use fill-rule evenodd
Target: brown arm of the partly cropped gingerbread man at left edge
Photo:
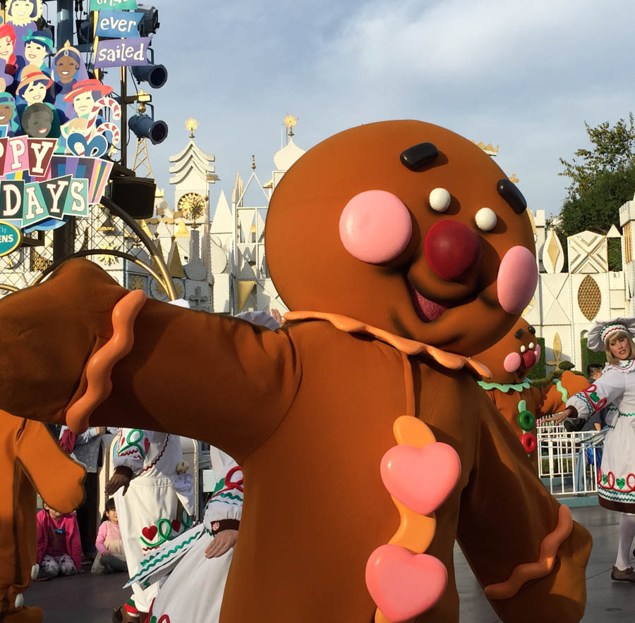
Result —
<path fill-rule="evenodd" d="M 59 512 L 71 512 L 82 504 L 86 470 L 57 445 L 42 422 L 24 421 L 16 456 L 47 505 Z"/>

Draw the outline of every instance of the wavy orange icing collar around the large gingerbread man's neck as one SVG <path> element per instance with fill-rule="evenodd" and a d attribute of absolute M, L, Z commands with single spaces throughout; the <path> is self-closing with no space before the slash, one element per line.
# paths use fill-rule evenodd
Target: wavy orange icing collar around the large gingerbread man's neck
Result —
<path fill-rule="evenodd" d="M 335 328 L 340 331 L 346 331 L 346 333 L 368 333 L 373 335 L 374 338 L 382 340 L 397 350 L 406 354 L 424 354 L 432 357 L 435 362 L 441 364 L 445 368 L 451 370 L 460 370 L 463 367 L 473 370 L 476 374 L 490 378 L 492 373 L 487 366 L 476 362 L 474 359 L 464 357 L 461 354 L 455 354 L 454 352 L 445 352 L 440 348 L 435 348 L 423 342 L 416 342 L 415 340 L 409 340 L 402 338 L 400 335 L 394 335 L 384 329 L 380 329 L 369 324 L 363 323 L 359 320 L 354 320 L 348 316 L 341 316 L 340 314 L 328 314 L 323 311 L 287 311 L 284 314 L 286 320 L 325 320 L 331 323 Z"/>

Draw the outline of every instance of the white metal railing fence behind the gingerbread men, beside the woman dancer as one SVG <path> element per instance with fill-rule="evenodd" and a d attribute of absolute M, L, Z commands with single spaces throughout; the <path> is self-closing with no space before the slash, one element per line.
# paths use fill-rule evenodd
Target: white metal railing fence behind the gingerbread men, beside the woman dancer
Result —
<path fill-rule="evenodd" d="M 598 493 L 604 431 L 567 433 L 562 424 L 538 425 L 538 476 L 552 495 Z"/>

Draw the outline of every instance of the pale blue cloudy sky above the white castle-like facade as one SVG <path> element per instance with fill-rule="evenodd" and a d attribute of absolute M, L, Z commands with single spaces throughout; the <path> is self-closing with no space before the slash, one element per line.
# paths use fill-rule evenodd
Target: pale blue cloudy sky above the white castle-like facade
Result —
<path fill-rule="evenodd" d="M 150 158 L 168 187 L 168 156 L 199 121 L 229 196 L 236 170 L 270 179 L 282 119 L 299 119 L 308 149 L 353 125 L 417 118 L 500 145 L 529 206 L 560 210 L 560 156 L 586 147 L 583 121 L 615 123 L 635 109 L 634 10 L 617 0 L 156 0 L 153 92 L 169 137 Z M 129 157 L 133 156 L 133 149 Z M 170 193 L 171 195 L 171 193 Z M 170 197 L 168 195 L 168 197 Z"/>

